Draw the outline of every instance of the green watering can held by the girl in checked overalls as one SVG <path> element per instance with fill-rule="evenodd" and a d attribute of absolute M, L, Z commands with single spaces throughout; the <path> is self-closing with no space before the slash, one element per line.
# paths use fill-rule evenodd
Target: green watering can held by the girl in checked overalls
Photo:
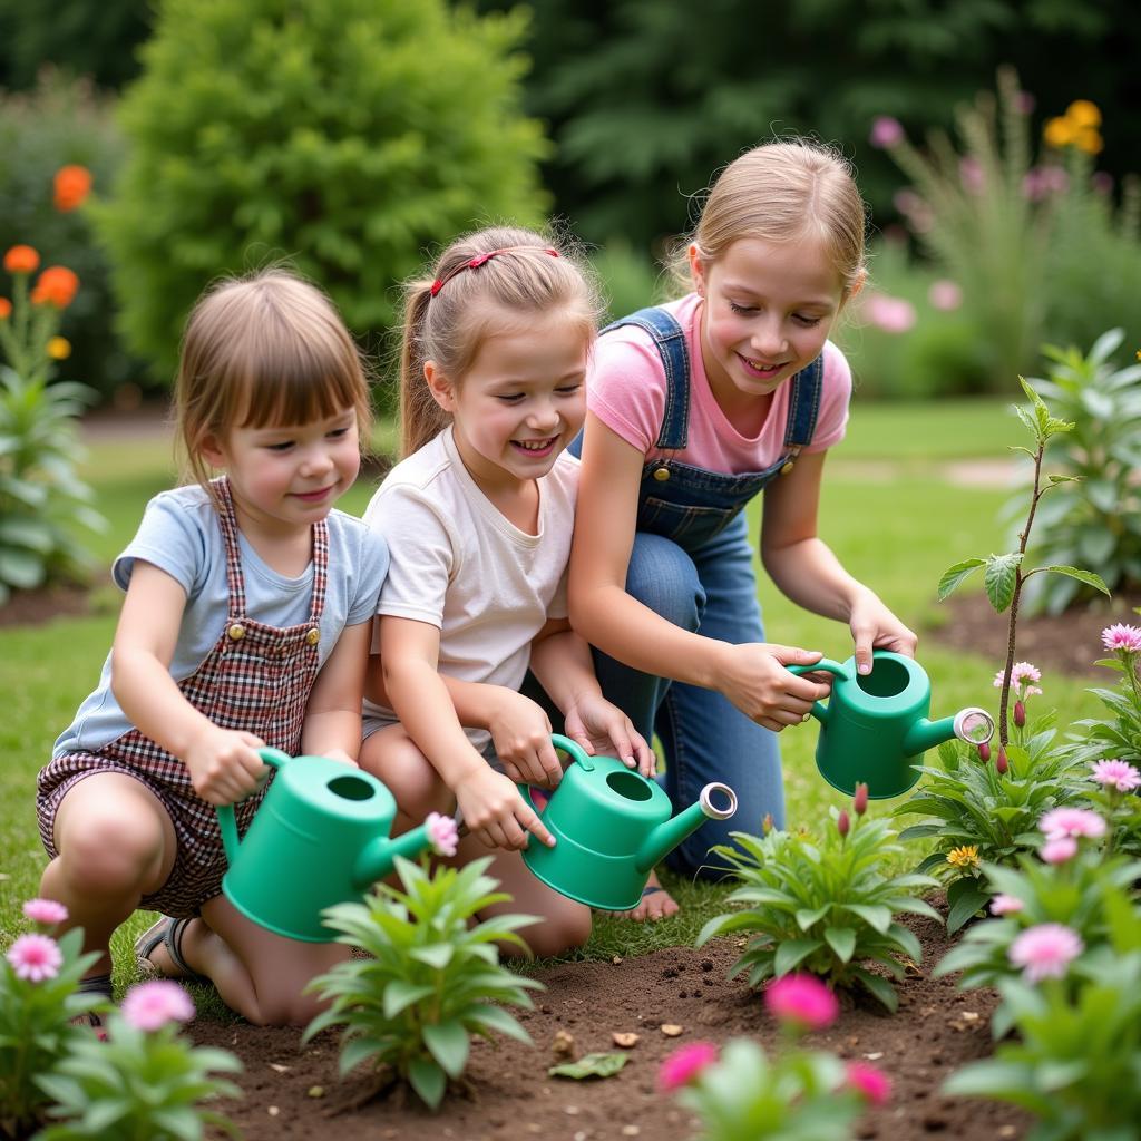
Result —
<path fill-rule="evenodd" d="M 218 809 L 229 863 L 221 890 L 268 931 L 329 942 L 322 909 L 361 899 L 397 856 L 419 856 L 431 844 L 428 830 L 421 825 L 389 840 L 396 801 L 362 769 L 278 748 L 259 748 L 258 755 L 277 776 L 241 842 L 234 807 Z"/>

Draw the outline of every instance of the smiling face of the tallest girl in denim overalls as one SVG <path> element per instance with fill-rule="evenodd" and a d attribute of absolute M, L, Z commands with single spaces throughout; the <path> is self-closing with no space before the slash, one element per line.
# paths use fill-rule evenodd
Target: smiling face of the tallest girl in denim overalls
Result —
<path fill-rule="evenodd" d="M 843 282 L 822 243 L 738 238 L 705 261 L 690 246 L 702 311 L 702 359 L 727 413 L 767 396 L 824 348 Z"/>

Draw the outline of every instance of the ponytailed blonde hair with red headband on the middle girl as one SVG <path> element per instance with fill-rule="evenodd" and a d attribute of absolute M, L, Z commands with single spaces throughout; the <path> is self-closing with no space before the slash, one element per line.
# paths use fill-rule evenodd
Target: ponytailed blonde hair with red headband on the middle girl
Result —
<path fill-rule="evenodd" d="M 468 265 L 472 259 L 476 266 Z M 459 383 L 484 340 L 502 330 L 504 310 L 524 323 L 553 309 L 565 310 L 583 340 L 597 333 L 598 292 L 575 254 L 513 226 L 456 240 L 439 256 L 431 277 L 408 282 L 400 340 L 400 454 L 411 455 L 451 422 L 428 388 L 424 362 L 434 361 Z"/>

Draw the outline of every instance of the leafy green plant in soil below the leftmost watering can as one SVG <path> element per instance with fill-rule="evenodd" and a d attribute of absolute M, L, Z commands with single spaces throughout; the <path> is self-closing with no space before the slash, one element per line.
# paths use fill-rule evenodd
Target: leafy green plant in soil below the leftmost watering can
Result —
<path fill-rule="evenodd" d="M 309 984 L 331 1003 L 306 1028 L 304 1041 L 330 1026 L 343 1026 L 341 1073 L 367 1063 L 378 1092 L 407 1082 L 431 1109 L 438 1108 L 448 1078 L 468 1062 L 469 1036 L 505 1034 L 531 1042 L 504 1004 L 532 1008 L 528 989 L 542 984 L 500 965 L 496 944 L 527 945 L 516 934 L 534 923 L 529 915 L 477 913 L 510 899 L 484 875 L 491 859 L 462 869 L 423 867 L 397 858 L 403 890 L 379 884 L 362 904 L 324 912 L 341 932 L 339 942 L 367 953 L 350 958 Z"/>

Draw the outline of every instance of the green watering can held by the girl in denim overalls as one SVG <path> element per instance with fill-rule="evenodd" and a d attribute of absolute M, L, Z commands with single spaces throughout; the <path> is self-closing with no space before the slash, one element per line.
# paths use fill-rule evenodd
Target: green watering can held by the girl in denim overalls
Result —
<path fill-rule="evenodd" d="M 971 706 L 954 717 L 928 720 L 931 682 L 914 658 L 875 650 L 872 672 L 857 673 L 856 658 L 841 665 L 824 658 L 815 665 L 790 665 L 793 673 L 825 671 L 835 677 L 828 704 L 817 702 L 820 722 L 816 767 L 840 792 L 851 795 L 864 782 L 874 800 L 900 796 L 920 778 L 923 753 L 952 737 L 980 745 L 994 734 L 994 719 Z"/>

